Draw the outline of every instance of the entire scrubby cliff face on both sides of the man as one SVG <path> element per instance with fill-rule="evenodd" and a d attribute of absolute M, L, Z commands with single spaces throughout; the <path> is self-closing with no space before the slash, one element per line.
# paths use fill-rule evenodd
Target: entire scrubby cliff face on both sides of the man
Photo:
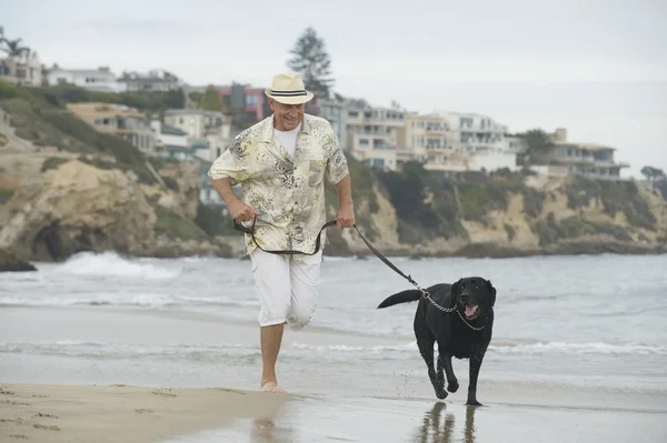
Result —
<path fill-rule="evenodd" d="M 201 165 L 147 159 L 67 112 L 59 91 L 0 84 L 0 250 L 39 261 L 241 254 L 230 220 L 199 203 Z M 348 161 L 357 225 L 387 255 L 667 252 L 667 201 L 643 184 Z M 337 201 L 329 187 L 329 220 Z M 327 254 L 370 254 L 354 230 L 328 233 Z"/>

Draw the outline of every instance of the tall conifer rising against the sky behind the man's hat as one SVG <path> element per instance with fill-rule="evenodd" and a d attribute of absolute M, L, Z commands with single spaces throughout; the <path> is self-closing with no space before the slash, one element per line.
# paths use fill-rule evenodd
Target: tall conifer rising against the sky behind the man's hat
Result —
<path fill-rule="evenodd" d="M 325 49 L 325 41 L 320 39 L 315 29 L 307 28 L 289 51 L 293 57 L 288 60 L 287 67 L 303 77 L 306 89 L 317 97 L 329 98 L 334 85 L 331 75 L 331 60 Z"/>

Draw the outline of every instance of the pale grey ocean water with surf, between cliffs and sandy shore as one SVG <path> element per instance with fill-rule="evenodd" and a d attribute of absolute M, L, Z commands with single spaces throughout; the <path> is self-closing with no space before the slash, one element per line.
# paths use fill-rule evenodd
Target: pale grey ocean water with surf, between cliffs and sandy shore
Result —
<path fill-rule="evenodd" d="M 421 286 L 468 275 L 496 286 L 481 403 L 667 412 L 667 255 L 391 260 Z M 0 274 L 0 382 L 257 389 L 249 261 L 108 252 L 37 266 Z M 311 323 L 286 329 L 281 385 L 436 401 L 412 335 L 416 303 L 376 309 L 414 286 L 374 256 L 325 256 L 321 275 Z M 447 400 L 460 404 L 467 361 L 454 370 L 461 387 Z"/>

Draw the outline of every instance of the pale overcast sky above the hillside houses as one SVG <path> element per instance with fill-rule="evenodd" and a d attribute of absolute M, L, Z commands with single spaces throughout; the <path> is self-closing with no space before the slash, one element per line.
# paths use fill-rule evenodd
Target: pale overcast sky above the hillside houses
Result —
<path fill-rule="evenodd" d="M 414 112 L 476 112 L 510 132 L 566 128 L 667 171 L 667 1 L 0 0 L 0 26 L 47 66 L 166 69 L 266 88 L 307 27 L 334 90 Z"/>

